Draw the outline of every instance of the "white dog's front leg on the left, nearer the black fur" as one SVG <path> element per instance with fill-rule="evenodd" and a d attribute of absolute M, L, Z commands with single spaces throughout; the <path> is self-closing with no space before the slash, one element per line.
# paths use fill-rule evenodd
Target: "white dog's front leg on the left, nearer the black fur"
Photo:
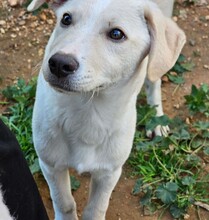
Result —
<path fill-rule="evenodd" d="M 78 220 L 68 169 L 54 169 L 40 159 L 39 163 L 50 188 L 55 220 Z"/>

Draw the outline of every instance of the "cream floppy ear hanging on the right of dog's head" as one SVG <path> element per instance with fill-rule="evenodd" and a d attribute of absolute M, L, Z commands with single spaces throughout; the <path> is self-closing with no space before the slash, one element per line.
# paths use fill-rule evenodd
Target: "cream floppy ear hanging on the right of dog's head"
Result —
<path fill-rule="evenodd" d="M 147 77 L 156 81 L 175 64 L 183 48 L 184 32 L 153 3 L 145 3 L 144 15 L 151 37 Z"/>

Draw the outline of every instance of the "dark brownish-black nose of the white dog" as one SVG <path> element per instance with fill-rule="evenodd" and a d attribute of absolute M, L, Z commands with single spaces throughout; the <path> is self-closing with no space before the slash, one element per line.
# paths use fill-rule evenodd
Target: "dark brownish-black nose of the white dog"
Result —
<path fill-rule="evenodd" d="M 57 77 L 73 74 L 78 67 L 79 63 L 72 55 L 56 53 L 49 59 L 49 69 Z"/>

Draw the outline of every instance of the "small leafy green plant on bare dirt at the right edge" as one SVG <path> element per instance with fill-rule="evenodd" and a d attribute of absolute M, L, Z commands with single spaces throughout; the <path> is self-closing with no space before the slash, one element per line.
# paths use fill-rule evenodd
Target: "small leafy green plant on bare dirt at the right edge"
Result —
<path fill-rule="evenodd" d="M 209 87 L 207 84 L 202 84 L 200 88 L 192 85 L 191 94 L 186 95 L 185 99 L 191 114 L 200 112 L 209 116 Z"/>

